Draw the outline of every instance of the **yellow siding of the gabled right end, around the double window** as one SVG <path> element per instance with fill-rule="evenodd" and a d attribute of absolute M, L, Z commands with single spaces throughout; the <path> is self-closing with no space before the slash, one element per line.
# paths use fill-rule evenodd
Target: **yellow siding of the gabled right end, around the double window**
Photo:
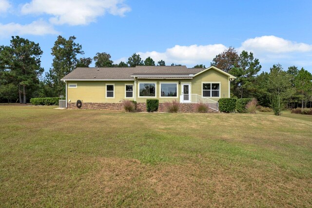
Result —
<path fill-rule="evenodd" d="M 192 79 L 192 94 L 202 95 L 202 82 L 220 82 L 220 98 L 229 97 L 229 77 L 214 69 L 207 70 Z M 208 97 L 215 101 L 219 98 Z"/>

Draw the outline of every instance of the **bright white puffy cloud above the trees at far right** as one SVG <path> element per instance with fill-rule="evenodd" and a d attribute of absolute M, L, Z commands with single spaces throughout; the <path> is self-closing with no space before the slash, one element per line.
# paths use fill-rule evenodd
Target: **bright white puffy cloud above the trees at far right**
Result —
<path fill-rule="evenodd" d="M 275 36 L 262 36 L 245 40 L 239 51 L 253 51 L 257 53 L 290 53 L 290 52 L 310 52 L 312 45 L 297 43 L 291 40 L 278 38 Z"/>

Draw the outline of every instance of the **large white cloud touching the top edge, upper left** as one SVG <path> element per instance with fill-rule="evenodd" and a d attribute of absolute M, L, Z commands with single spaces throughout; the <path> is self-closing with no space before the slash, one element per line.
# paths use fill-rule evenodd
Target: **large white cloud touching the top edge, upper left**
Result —
<path fill-rule="evenodd" d="M 124 0 L 32 0 L 21 7 L 22 14 L 47 14 L 53 24 L 86 25 L 109 13 L 124 16 L 131 8 Z"/>

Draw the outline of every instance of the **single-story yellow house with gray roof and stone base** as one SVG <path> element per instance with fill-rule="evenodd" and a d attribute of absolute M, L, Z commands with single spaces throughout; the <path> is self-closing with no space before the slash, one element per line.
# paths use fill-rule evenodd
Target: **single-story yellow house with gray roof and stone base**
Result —
<path fill-rule="evenodd" d="M 206 103 L 218 111 L 218 100 L 230 97 L 234 76 L 215 66 L 136 66 L 124 68 L 77 68 L 61 80 L 66 82 L 66 108 L 122 109 L 122 100 L 137 101 L 144 110 L 146 99 L 158 99 L 159 108 L 177 100 L 187 111 L 195 103 Z"/>

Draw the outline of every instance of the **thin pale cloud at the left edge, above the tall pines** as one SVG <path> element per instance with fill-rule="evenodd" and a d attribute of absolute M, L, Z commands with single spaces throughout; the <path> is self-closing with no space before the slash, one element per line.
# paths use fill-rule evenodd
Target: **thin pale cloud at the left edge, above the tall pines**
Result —
<path fill-rule="evenodd" d="M 33 21 L 30 24 L 21 25 L 18 23 L 0 23 L 0 37 L 10 37 L 17 35 L 38 35 L 58 34 L 53 26 L 42 19 Z"/>

